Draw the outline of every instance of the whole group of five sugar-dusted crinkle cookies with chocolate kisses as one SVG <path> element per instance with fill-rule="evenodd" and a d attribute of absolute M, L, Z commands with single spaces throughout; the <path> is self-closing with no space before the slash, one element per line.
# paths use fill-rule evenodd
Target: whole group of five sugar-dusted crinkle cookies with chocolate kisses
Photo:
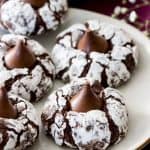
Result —
<path fill-rule="evenodd" d="M 64 22 L 66 0 L 3 0 L 0 25 L 0 149 L 24 150 L 45 133 L 59 146 L 104 150 L 128 131 L 122 94 L 137 66 L 137 47 L 122 29 L 90 20 L 57 36 L 50 54 L 28 36 Z M 38 116 L 31 103 L 53 91 Z M 43 133 L 41 133 L 43 134 Z M 48 149 L 48 148 L 47 148 Z"/>

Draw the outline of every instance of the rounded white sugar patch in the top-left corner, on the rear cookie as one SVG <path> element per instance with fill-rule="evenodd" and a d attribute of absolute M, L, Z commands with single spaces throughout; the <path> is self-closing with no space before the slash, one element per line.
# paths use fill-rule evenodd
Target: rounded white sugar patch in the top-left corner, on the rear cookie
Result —
<path fill-rule="evenodd" d="M 1 6 L 1 21 L 9 31 L 28 34 L 35 29 L 36 13 L 31 5 L 20 0 L 7 1 Z"/>

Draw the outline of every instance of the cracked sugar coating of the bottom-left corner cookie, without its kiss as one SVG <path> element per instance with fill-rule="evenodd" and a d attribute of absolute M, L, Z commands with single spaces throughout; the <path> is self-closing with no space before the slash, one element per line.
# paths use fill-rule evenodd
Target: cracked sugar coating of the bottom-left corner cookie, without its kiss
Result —
<path fill-rule="evenodd" d="M 0 147 L 3 150 L 24 150 L 37 139 L 39 120 L 32 104 L 12 94 L 9 99 L 18 116 L 16 119 L 0 118 Z"/>

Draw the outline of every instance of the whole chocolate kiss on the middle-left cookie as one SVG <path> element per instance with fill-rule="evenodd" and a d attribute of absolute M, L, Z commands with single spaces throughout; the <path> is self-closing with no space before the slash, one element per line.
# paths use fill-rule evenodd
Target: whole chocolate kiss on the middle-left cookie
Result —
<path fill-rule="evenodd" d="M 5 64 L 9 69 L 30 68 L 34 65 L 35 61 L 34 54 L 21 40 L 13 48 L 9 49 L 5 55 Z"/>

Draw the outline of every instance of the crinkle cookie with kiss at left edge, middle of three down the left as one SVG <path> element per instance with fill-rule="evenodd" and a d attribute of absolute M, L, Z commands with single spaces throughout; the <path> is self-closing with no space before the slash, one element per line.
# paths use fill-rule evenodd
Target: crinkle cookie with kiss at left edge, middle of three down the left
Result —
<path fill-rule="evenodd" d="M 38 101 L 53 86 L 55 67 L 38 42 L 20 35 L 0 39 L 0 85 L 9 93 Z"/>

